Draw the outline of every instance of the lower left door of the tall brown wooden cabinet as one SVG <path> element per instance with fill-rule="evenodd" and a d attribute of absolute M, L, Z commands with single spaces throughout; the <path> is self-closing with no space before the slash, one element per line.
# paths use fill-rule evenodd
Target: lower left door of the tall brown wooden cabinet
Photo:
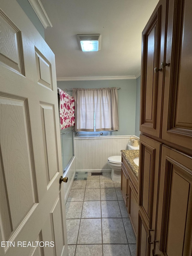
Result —
<path fill-rule="evenodd" d="M 150 241 L 155 240 L 160 150 L 161 143 L 140 135 L 138 256 L 152 255 Z M 146 254 L 143 241 L 147 243 Z"/>

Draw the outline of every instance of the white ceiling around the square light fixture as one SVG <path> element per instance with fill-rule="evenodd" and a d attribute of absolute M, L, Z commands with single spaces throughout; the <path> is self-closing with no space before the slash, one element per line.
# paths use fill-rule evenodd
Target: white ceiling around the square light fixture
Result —
<path fill-rule="evenodd" d="M 45 41 L 57 80 L 128 79 L 141 69 L 142 31 L 158 0 L 41 0 L 52 23 Z M 101 34 L 101 50 L 82 52 L 77 34 Z"/>

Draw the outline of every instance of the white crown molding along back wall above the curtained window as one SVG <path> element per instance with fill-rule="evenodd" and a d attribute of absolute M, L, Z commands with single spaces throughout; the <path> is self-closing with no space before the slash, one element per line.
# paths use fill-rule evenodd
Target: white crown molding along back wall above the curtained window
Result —
<path fill-rule="evenodd" d="M 113 77 L 57 77 L 57 81 L 86 81 L 86 80 L 122 80 L 136 79 L 135 76 L 113 76 Z"/>

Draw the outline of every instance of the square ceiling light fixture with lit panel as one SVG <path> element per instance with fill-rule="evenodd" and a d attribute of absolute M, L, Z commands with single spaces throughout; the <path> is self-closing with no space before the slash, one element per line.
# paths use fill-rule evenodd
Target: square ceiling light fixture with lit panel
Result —
<path fill-rule="evenodd" d="M 101 50 L 101 34 L 77 35 L 83 52 L 95 52 Z"/>

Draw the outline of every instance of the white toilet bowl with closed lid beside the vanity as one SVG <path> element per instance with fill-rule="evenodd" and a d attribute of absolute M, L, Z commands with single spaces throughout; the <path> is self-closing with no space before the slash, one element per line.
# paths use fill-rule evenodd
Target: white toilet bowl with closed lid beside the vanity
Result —
<path fill-rule="evenodd" d="M 107 163 L 112 169 L 111 179 L 113 181 L 121 181 L 121 155 L 113 155 L 108 157 Z"/>

